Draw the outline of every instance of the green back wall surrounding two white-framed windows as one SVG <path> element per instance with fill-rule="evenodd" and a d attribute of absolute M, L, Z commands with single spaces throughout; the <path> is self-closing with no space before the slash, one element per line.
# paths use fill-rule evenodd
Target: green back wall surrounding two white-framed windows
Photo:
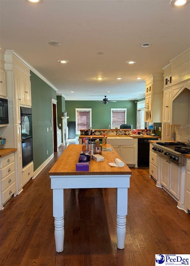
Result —
<path fill-rule="evenodd" d="M 127 108 L 127 123 L 136 127 L 136 103 L 135 101 L 117 101 L 108 102 L 104 105 L 102 102 L 96 101 L 65 101 L 65 108 L 69 121 L 75 121 L 75 108 L 92 108 L 92 128 L 107 129 L 111 122 L 110 108 Z"/>

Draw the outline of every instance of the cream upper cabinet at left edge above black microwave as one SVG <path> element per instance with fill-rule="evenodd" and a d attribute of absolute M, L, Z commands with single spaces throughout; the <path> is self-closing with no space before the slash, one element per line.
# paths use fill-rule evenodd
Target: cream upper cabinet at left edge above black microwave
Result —
<path fill-rule="evenodd" d="M 0 96 L 7 97 L 4 53 L 5 53 L 5 50 L 0 46 Z"/>

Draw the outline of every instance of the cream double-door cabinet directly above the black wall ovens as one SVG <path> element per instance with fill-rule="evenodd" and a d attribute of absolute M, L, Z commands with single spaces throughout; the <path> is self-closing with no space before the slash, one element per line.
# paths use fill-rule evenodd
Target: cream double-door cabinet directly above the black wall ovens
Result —
<path fill-rule="evenodd" d="M 31 106 L 31 85 L 30 80 L 19 76 L 20 105 Z"/>

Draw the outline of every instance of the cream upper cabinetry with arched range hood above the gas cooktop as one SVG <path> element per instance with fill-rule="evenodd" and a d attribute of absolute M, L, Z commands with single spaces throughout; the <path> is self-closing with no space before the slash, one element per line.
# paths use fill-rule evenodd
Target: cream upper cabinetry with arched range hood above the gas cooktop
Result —
<path fill-rule="evenodd" d="M 170 61 L 164 70 L 163 123 L 190 123 L 190 48 Z"/>

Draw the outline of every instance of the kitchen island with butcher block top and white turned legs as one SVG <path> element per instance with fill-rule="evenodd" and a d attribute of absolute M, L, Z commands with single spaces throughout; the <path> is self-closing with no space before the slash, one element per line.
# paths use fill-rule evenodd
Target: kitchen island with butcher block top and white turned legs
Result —
<path fill-rule="evenodd" d="M 121 157 L 111 145 L 106 146 L 111 151 L 102 151 L 104 161 L 90 161 L 89 171 L 76 171 L 82 145 L 70 144 L 49 171 L 51 189 L 53 189 L 53 217 L 55 219 L 56 251 L 64 249 L 64 189 L 80 188 L 116 188 L 116 221 L 117 221 L 117 247 L 123 249 L 126 234 L 126 215 L 128 188 L 131 170 L 124 167 L 113 167 L 108 162 L 114 162 Z M 67 217 L 66 217 L 67 219 Z M 68 221 L 69 222 L 69 221 Z"/>

